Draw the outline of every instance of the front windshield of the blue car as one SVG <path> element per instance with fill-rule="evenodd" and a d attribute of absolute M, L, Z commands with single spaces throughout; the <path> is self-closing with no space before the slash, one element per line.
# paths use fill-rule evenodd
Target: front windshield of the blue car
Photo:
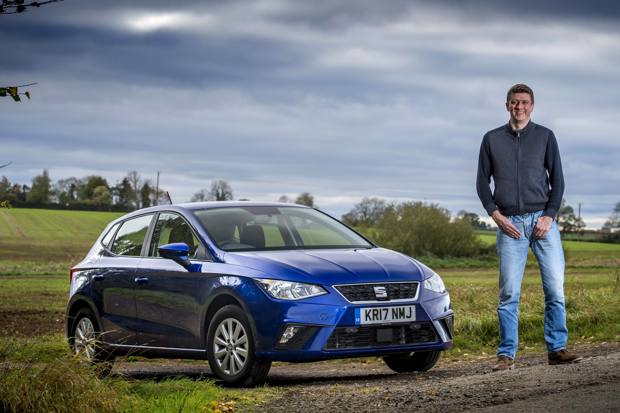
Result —
<path fill-rule="evenodd" d="M 373 247 L 339 221 L 310 208 L 223 207 L 194 214 L 224 251 Z"/>

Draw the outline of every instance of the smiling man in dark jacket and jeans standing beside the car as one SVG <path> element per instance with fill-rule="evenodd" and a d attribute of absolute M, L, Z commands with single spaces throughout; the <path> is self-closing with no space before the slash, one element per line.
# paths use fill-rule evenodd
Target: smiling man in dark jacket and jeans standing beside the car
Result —
<path fill-rule="evenodd" d="M 549 364 L 581 360 L 566 350 L 564 253 L 555 222 L 564 193 L 560 152 L 553 132 L 530 120 L 533 109 L 532 89 L 524 84 L 511 87 L 506 96 L 510 121 L 487 132 L 480 146 L 476 188 L 484 209 L 499 228 L 500 343 L 494 371 L 514 368 L 519 296 L 529 248 L 542 276 Z"/>

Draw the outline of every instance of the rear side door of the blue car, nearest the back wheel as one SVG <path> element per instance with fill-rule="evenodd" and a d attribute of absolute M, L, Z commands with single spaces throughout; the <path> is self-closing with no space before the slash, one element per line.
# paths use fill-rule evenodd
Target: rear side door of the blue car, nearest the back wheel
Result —
<path fill-rule="evenodd" d="M 124 221 L 97 263 L 91 292 L 107 343 L 136 344 L 135 275 L 152 219 L 148 214 Z"/>

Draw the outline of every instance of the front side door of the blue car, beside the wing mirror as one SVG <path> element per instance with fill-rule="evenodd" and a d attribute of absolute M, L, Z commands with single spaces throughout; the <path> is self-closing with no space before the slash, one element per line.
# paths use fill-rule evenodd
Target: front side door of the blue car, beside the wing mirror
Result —
<path fill-rule="evenodd" d="M 137 340 L 142 346 L 198 349 L 206 276 L 159 256 L 159 246 L 175 242 L 189 245 L 195 263 L 208 258 L 204 245 L 180 214 L 159 214 L 148 256 L 140 260 L 136 275 L 142 280 L 135 291 Z"/>

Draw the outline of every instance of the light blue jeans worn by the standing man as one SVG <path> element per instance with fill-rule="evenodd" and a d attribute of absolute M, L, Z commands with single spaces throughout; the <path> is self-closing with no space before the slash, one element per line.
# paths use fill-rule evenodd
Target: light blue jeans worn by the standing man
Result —
<path fill-rule="evenodd" d="M 534 226 L 543 211 L 508 217 L 521 232 L 514 239 L 497 231 L 499 255 L 499 316 L 500 343 L 497 355 L 515 357 L 519 344 L 519 297 L 528 249 L 538 260 L 545 293 L 545 342 L 548 351 L 566 347 L 566 309 L 564 306 L 564 252 L 560 231 L 555 221 L 544 238 L 534 237 Z"/>

